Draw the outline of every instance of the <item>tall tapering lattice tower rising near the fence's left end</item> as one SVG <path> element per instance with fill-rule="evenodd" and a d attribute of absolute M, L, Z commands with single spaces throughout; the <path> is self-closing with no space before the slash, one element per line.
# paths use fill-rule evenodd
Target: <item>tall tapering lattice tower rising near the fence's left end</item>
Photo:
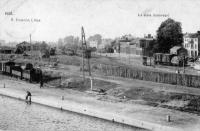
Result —
<path fill-rule="evenodd" d="M 82 72 L 83 72 L 83 79 L 85 80 L 85 56 L 86 53 L 88 53 L 88 49 L 87 49 L 87 44 L 86 44 L 86 40 L 85 40 L 85 32 L 84 32 L 84 28 L 81 27 L 81 42 L 82 42 Z M 91 76 L 91 70 L 90 70 L 90 58 L 87 58 L 87 62 L 88 62 L 88 71 L 89 71 L 89 76 Z"/>

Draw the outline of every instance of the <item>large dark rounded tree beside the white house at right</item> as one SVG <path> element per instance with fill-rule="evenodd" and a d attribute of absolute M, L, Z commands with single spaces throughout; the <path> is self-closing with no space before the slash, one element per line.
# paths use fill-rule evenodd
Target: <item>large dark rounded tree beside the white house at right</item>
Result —
<path fill-rule="evenodd" d="M 182 42 L 181 23 L 168 18 L 161 23 L 157 30 L 157 42 L 154 46 L 154 52 L 169 53 L 170 48 L 181 46 Z"/>

